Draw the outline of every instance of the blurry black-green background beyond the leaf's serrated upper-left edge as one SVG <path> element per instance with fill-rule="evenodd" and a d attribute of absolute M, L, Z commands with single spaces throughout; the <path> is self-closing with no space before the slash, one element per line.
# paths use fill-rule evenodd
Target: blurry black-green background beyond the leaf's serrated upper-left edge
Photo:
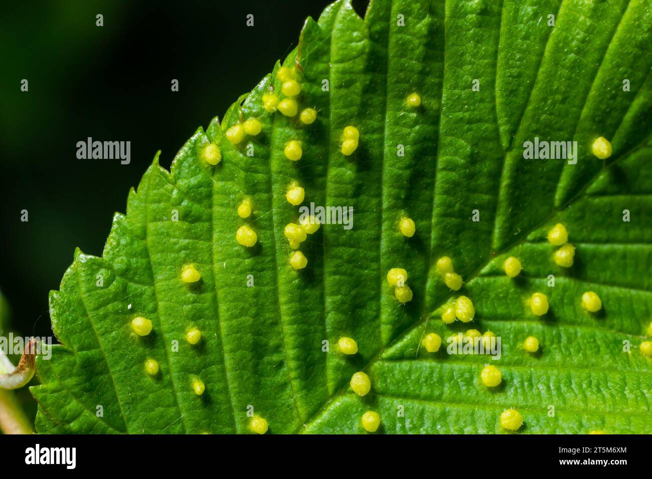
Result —
<path fill-rule="evenodd" d="M 50 336 L 48 292 L 74 248 L 101 255 L 159 149 L 172 158 L 297 46 L 329 0 L 6 2 L 0 14 L 0 291 L 21 334 Z M 366 1 L 354 1 L 364 14 Z M 104 15 L 97 27 L 96 14 Z M 246 15 L 254 15 L 254 27 Z M 29 81 L 29 91 L 20 82 Z M 179 80 L 179 92 L 171 80 Z M 131 162 L 78 141 L 131 141 Z M 21 210 L 29 222 L 20 221 Z"/>

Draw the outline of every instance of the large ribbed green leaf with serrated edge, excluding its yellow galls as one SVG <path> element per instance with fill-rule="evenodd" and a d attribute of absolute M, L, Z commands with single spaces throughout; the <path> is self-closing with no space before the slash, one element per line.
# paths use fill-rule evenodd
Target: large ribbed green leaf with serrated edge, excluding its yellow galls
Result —
<path fill-rule="evenodd" d="M 299 65 L 300 106 L 318 120 L 263 109 L 264 93 L 280 94 L 277 65 L 188 140 L 170 173 L 156 155 L 101 258 L 76 252 L 50 297 L 62 345 L 38 362 L 38 430 L 246 433 L 253 407 L 271 433 L 361 433 L 369 409 L 385 433 L 497 433 L 516 407 L 523 433 L 652 432 L 651 360 L 638 349 L 652 316 L 651 25 L 645 0 L 374 0 L 364 20 L 338 1 L 308 19 L 284 65 Z M 406 104 L 413 92 L 419 108 Z M 261 134 L 231 145 L 224 132 L 249 117 Z M 348 125 L 360 142 L 344 156 Z M 612 142 L 608 160 L 591 152 L 599 136 Z M 576 164 L 524 159 L 535 137 L 577 141 Z M 284 156 L 291 139 L 298 162 Z M 209 142 L 222 151 L 215 167 L 201 158 Z M 301 244 L 308 266 L 297 271 L 283 234 L 299 216 L 285 199 L 293 181 L 304 205 L 354 210 L 352 229 L 322 225 Z M 415 221 L 411 238 L 402 216 Z M 546 241 L 557 222 L 577 248 L 570 269 Z M 254 248 L 235 241 L 244 224 Z M 462 290 L 437 275 L 442 255 Z M 509 255 L 523 264 L 514 280 Z M 188 263 L 201 273 L 191 287 Z M 406 304 L 385 280 L 392 267 L 409 272 Z M 543 317 L 527 306 L 537 291 L 550 301 Z M 602 298 L 599 313 L 580 305 L 585 291 Z M 475 321 L 445 325 L 443 306 L 462 294 Z M 149 336 L 132 332 L 136 315 L 151 319 Z M 501 358 L 419 347 L 426 333 L 467 328 L 500 336 Z M 357 355 L 337 352 L 341 336 Z M 524 351 L 527 336 L 539 353 Z M 493 390 L 480 379 L 487 362 L 503 374 Z M 364 398 L 348 386 L 359 370 L 372 381 Z"/>

